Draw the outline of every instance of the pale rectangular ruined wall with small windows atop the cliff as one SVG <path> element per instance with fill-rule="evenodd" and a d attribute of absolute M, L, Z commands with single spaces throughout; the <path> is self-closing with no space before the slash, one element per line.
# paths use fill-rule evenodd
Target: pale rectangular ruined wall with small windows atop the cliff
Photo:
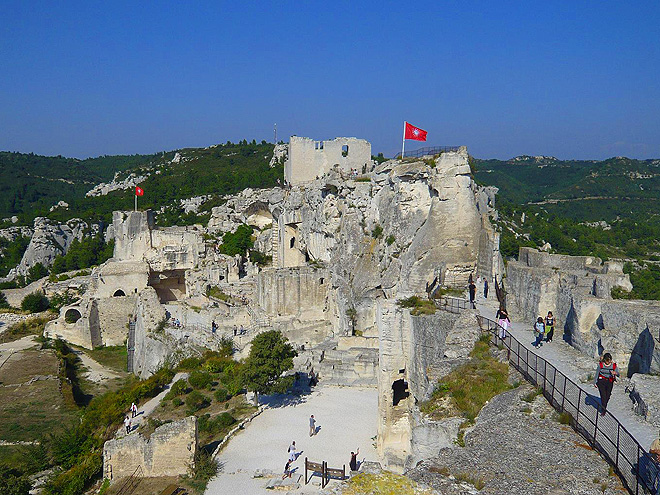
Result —
<path fill-rule="evenodd" d="M 362 172 L 365 165 L 371 166 L 371 144 L 356 138 L 314 141 L 291 136 L 289 156 L 284 164 L 284 178 L 288 184 L 313 181 L 335 165 L 343 171 L 357 169 Z"/>

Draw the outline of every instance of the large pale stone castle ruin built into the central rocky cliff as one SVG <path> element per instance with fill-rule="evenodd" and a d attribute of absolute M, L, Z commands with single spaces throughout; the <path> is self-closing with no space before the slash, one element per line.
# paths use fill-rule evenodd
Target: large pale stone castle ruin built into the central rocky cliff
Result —
<path fill-rule="evenodd" d="M 413 438 L 437 433 L 416 402 L 477 335 L 465 316 L 412 317 L 397 301 L 503 271 L 494 194 L 474 183 L 467 149 L 428 158 L 376 164 L 364 140 L 292 137 L 287 187 L 227 197 L 206 227 L 115 212 L 114 257 L 46 334 L 85 347 L 127 342 L 129 367 L 147 377 L 221 336 L 240 356 L 258 332 L 280 330 L 299 349 L 298 371 L 378 387 L 378 447 L 403 470 L 422 455 Z M 268 265 L 219 253 L 222 234 L 243 224 Z"/>

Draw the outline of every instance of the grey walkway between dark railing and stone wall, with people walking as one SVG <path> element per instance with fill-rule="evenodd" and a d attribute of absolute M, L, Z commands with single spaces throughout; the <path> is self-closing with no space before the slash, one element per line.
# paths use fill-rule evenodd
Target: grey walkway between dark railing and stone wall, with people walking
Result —
<path fill-rule="evenodd" d="M 497 312 L 497 301 L 493 297 L 484 301 L 483 297 L 477 296 L 477 310 L 479 314 L 495 321 Z M 545 315 L 543 315 L 545 316 Z M 598 390 L 593 386 L 593 375 L 596 372 L 596 359 L 589 359 L 583 353 L 564 342 L 562 339 L 563 322 L 559 322 L 559 328 L 555 328 L 554 339 L 550 343 L 544 343 L 539 349 L 535 349 L 532 343 L 535 338 L 532 332 L 534 322 L 511 321 L 509 329 L 521 345 L 525 346 L 530 352 L 536 353 L 567 377 L 580 385 L 580 388 L 588 394 L 598 397 Z M 586 383 L 583 381 L 591 374 L 592 380 Z M 630 432 L 632 436 L 644 447 L 648 449 L 651 442 L 658 438 L 658 430 L 643 417 L 635 414 L 632 410 L 632 402 L 625 392 L 626 379 L 618 380 L 614 385 L 612 397 L 607 410 Z"/>

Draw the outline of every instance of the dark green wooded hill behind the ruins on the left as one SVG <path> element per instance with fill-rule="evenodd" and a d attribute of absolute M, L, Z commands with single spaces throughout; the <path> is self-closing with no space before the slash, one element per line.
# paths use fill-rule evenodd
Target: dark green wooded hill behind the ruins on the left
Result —
<path fill-rule="evenodd" d="M 35 216 L 54 220 L 79 217 L 107 223 L 113 210 L 133 207 L 133 188 L 115 190 L 103 196 L 85 194 L 101 182 L 117 181 L 130 174 L 146 177 L 140 182 L 145 191 L 140 208 L 163 209 L 165 224 L 190 223 L 195 215 L 185 215 L 180 200 L 207 195 L 206 209 L 217 204 L 219 196 L 246 187 L 273 187 L 283 176 L 282 164 L 270 167 L 273 145 L 248 143 L 185 148 L 154 155 L 103 156 L 87 160 L 45 157 L 23 153 L 0 153 L 0 217 L 17 215 L 30 224 Z M 216 197 L 214 201 L 213 198 Z M 59 201 L 68 208 L 51 207 Z"/>

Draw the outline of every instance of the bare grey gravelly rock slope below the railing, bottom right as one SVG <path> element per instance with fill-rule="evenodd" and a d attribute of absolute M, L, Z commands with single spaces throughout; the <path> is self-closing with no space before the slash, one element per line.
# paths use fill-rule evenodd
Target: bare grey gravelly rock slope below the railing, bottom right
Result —
<path fill-rule="evenodd" d="M 571 428 L 560 425 L 543 396 L 522 397 L 530 385 L 486 404 L 465 447 L 451 446 L 407 475 L 443 494 L 548 495 L 620 493 L 609 466 Z M 457 479 L 468 474 L 472 484 Z M 483 488 L 476 490 L 474 482 Z"/>

